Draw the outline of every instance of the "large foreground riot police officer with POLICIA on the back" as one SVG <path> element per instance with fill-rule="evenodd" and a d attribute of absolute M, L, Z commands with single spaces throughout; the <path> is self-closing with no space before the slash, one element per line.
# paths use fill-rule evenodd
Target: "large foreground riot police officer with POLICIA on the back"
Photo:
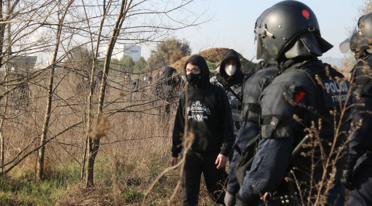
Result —
<path fill-rule="evenodd" d="M 343 117 L 340 105 L 348 84 L 337 81 L 342 74 L 317 59 L 332 45 L 321 37 L 313 11 L 295 0 L 266 9 L 254 32 L 257 59 L 275 64 L 279 73 L 263 85 L 260 140 L 236 204 L 341 206 L 344 159 L 339 146 L 349 124 L 340 124 L 337 131 L 344 133 L 335 134 L 334 122 Z M 292 155 L 297 148 L 304 155 Z"/>

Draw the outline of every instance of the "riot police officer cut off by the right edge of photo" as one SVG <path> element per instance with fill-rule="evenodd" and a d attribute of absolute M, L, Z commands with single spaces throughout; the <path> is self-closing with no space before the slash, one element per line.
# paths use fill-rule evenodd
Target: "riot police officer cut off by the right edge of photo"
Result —
<path fill-rule="evenodd" d="M 353 51 L 357 60 L 352 70 L 353 106 L 350 128 L 349 154 L 342 183 L 350 190 L 348 206 L 372 205 L 372 13 L 359 18 L 350 36 L 340 44 L 343 53 Z M 362 121 L 359 123 L 359 121 Z M 359 124 L 358 124 L 359 123 Z"/>

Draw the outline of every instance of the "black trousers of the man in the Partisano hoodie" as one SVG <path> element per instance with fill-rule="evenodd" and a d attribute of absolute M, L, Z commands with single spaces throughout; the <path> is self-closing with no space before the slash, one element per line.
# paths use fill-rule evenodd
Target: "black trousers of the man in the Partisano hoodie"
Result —
<path fill-rule="evenodd" d="M 216 204 L 223 204 L 224 186 L 227 181 L 225 169 L 216 168 L 219 152 L 196 153 L 188 151 L 182 178 L 184 206 L 195 206 L 198 203 L 201 173 L 204 175 L 209 197 Z"/>

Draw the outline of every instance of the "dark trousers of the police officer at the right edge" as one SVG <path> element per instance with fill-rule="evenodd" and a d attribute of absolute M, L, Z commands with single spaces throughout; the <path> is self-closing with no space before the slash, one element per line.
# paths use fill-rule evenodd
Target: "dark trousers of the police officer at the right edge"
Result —
<path fill-rule="evenodd" d="M 348 206 L 372 206 L 372 165 L 356 165 L 353 186 L 354 190 L 349 192 Z"/>

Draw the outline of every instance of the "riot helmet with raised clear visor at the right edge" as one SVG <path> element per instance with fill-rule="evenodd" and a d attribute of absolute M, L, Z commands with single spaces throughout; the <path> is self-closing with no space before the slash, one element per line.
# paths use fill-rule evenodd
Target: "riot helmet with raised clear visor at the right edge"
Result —
<path fill-rule="evenodd" d="M 348 38 L 340 44 L 340 51 L 346 53 L 349 49 L 353 52 L 369 51 L 372 45 L 372 13 L 361 16 Z"/>

